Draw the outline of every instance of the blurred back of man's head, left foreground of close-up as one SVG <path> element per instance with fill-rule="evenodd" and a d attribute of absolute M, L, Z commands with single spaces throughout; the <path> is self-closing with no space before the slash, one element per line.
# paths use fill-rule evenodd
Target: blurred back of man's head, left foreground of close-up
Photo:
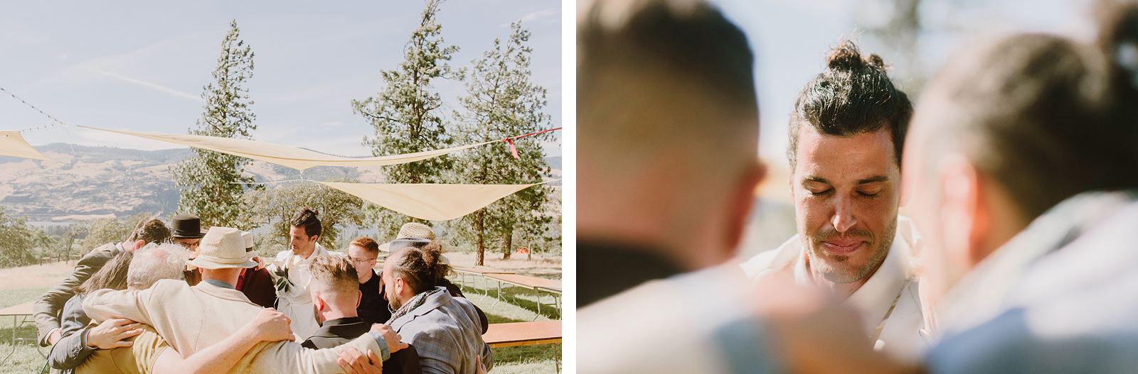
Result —
<path fill-rule="evenodd" d="M 688 0 L 594 1 L 577 35 L 580 247 L 728 259 L 764 174 L 747 38 Z"/>

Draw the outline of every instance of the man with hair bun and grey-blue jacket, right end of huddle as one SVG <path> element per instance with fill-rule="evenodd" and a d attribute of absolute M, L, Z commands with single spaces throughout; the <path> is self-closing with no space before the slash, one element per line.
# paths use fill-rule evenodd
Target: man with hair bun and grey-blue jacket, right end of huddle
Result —
<path fill-rule="evenodd" d="M 382 277 L 394 310 L 388 324 L 415 347 L 423 373 L 475 373 L 479 363 L 488 371 L 494 356 L 483 341 L 484 326 L 475 304 L 435 285 L 450 271 L 442 257 L 436 243 L 404 248 L 387 257 Z"/>

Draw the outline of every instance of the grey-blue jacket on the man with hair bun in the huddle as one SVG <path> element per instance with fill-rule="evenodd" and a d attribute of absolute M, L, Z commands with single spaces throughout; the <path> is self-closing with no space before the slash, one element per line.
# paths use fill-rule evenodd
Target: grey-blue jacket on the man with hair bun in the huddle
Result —
<path fill-rule="evenodd" d="M 411 313 L 390 321 L 404 342 L 415 346 L 423 373 L 473 374 L 478 355 L 489 371 L 494 354 L 483 341 L 478 309 L 465 298 L 446 292 L 432 294 Z"/>

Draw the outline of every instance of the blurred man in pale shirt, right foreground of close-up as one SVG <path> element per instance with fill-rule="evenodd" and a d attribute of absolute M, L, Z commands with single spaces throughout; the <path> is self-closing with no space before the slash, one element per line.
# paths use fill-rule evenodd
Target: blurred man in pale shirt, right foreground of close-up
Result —
<path fill-rule="evenodd" d="M 1048 34 L 972 44 L 922 94 L 902 184 L 942 336 L 923 367 L 809 329 L 840 315 L 820 308 L 776 322 L 795 372 L 1138 369 L 1138 3 L 1100 10 L 1100 49 Z"/>

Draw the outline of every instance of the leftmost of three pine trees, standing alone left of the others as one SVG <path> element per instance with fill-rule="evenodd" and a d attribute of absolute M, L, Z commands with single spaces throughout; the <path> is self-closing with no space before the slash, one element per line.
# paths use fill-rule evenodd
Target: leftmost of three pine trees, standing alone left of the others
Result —
<path fill-rule="evenodd" d="M 221 57 L 213 72 L 214 81 L 204 88 L 201 98 L 206 100 L 205 111 L 190 134 L 222 138 L 251 139 L 257 130 L 253 123 L 256 115 L 249 108 L 249 90 L 242 85 L 253 77 L 253 50 L 239 40 L 237 20 L 230 23 L 229 33 L 221 43 Z M 193 148 L 195 156 L 171 167 L 171 173 L 181 189 L 178 213 L 195 214 L 204 225 L 251 228 L 239 219 L 242 210 L 241 197 L 246 186 L 239 183 L 254 182 L 242 175 L 249 159 L 211 150 Z"/>

